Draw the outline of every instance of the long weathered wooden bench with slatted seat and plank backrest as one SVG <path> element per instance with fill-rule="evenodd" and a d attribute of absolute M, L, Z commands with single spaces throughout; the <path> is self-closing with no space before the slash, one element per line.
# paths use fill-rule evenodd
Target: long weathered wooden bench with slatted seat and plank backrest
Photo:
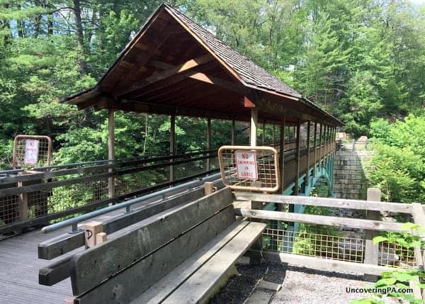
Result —
<path fill-rule="evenodd" d="M 229 188 L 115 232 L 69 261 L 74 303 L 205 303 L 258 240 Z"/>

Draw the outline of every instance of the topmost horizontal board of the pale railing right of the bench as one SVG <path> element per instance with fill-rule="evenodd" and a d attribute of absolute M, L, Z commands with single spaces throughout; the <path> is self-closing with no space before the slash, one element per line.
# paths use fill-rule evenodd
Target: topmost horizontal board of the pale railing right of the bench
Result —
<path fill-rule="evenodd" d="M 387 202 L 370 202 L 360 200 L 348 200 L 341 198 L 319 198 L 310 196 L 283 196 L 277 194 L 263 194 L 263 193 L 248 193 L 242 191 L 235 191 L 234 197 L 240 201 L 263 201 L 265 203 L 283 203 L 295 204 L 306 206 L 320 206 L 320 207 L 335 207 L 335 208 L 349 208 L 357 210 L 374 210 L 374 211 L 388 211 L 394 213 L 412 213 L 412 204 L 407 203 L 387 203 Z M 422 206 L 419 204 L 422 208 Z M 425 220 L 425 218 L 424 218 Z"/>

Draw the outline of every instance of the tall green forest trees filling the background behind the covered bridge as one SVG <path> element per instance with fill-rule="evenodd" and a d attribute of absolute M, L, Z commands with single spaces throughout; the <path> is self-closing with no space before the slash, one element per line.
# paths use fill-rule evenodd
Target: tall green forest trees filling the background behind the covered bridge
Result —
<path fill-rule="evenodd" d="M 171 4 L 335 113 L 349 132 L 368 133 L 370 124 L 371 133 L 383 138 L 389 132 L 377 117 L 404 117 L 420 113 L 423 106 L 425 9 L 401 0 L 381 2 L 174 0 Z M 11 141 L 20 133 L 50 135 L 56 163 L 106 157 L 105 113 L 77 111 L 58 101 L 94 86 L 160 3 L 94 0 L 75 7 L 78 1 L 0 1 L 2 169 L 10 164 Z M 76 9 L 81 10 L 81 22 Z M 168 118 L 116 113 L 116 120 L 118 157 L 169 151 Z M 424 156 L 424 128 L 418 126 L 409 116 L 407 124 L 384 143 Z M 177 118 L 177 152 L 204 148 L 205 129 L 205 120 Z M 244 129 L 237 125 L 238 143 L 248 142 Z M 266 142 L 271 141 L 270 131 Z M 212 147 L 228 143 L 229 132 L 228 122 L 214 121 Z M 409 142 L 409 137 L 414 140 Z M 401 177 L 398 186 L 407 188 L 402 196 L 410 198 L 413 188 L 421 189 L 417 184 L 423 179 L 417 172 L 413 176 L 411 169 L 393 172 L 391 162 L 380 166 L 388 178 Z"/>

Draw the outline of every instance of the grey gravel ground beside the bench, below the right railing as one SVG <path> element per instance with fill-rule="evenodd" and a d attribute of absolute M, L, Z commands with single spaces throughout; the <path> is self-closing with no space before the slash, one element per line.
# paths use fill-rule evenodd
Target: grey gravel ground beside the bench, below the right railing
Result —
<path fill-rule="evenodd" d="M 280 291 L 273 295 L 273 304 L 345 304 L 365 297 L 361 293 L 347 293 L 347 287 L 370 285 L 362 281 L 362 276 L 316 271 L 273 261 L 263 261 L 257 266 L 239 265 L 237 269 L 241 275 L 229 280 L 227 286 L 212 299 L 212 304 L 244 303 L 261 278 L 282 284 Z M 397 302 L 387 299 L 387 303 Z"/>

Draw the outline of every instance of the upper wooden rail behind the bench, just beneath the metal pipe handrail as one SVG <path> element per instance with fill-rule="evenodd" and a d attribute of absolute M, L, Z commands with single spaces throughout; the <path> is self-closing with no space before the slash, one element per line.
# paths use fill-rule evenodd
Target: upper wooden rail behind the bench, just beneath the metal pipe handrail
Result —
<path fill-rule="evenodd" d="M 104 223 L 104 230 L 109 235 L 181 203 L 196 200 L 203 196 L 203 192 L 203 189 L 196 189 L 165 201 L 158 201 L 158 198 L 154 198 L 154 201 L 133 210 L 132 213 L 125 213 L 117 218 L 107 220 Z M 38 258 L 54 259 L 81 246 L 84 246 L 84 232 L 73 235 L 67 233 L 38 244 Z"/>

